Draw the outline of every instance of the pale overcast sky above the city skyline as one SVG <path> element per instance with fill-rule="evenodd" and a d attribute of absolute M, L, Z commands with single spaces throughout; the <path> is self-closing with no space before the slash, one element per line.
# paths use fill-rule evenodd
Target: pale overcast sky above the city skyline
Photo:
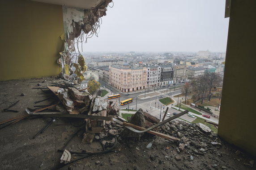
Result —
<path fill-rule="evenodd" d="M 225 52 L 224 13 L 225 0 L 114 0 L 83 50 Z"/>

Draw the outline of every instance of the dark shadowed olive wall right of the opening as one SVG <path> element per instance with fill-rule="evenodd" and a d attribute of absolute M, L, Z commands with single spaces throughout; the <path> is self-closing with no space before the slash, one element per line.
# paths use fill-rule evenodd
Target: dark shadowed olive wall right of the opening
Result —
<path fill-rule="evenodd" d="M 256 156 L 256 1 L 232 0 L 218 135 Z"/>

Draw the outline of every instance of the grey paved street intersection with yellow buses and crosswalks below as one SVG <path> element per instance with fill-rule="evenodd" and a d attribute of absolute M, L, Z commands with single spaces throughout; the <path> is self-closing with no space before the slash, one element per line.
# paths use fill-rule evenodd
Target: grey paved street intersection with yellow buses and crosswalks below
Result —
<path fill-rule="evenodd" d="M 103 85 L 105 85 L 105 84 L 103 83 Z M 174 86 L 171 86 L 171 87 L 174 87 Z M 125 109 L 125 108 L 136 109 L 136 103 L 137 103 L 137 109 L 142 108 L 143 111 L 148 112 L 149 114 L 157 117 L 158 119 L 160 118 L 160 112 L 161 112 L 161 119 L 162 119 L 162 117 L 164 115 L 164 111 L 166 111 L 166 106 L 158 100 L 158 96 L 161 95 L 163 98 L 172 96 L 172 100 L 175 101 L 175 103 L 173 104 L 173 107 L 174 107 L 177 104 L 177 102 L 176 102 L 177 98 L 175 98 L 173 96 L 180 94 L 182 91 L 182 87 L 183 86 L 181 86 L 181 87 L 176 86 L 175 91 L 174 91 L 174 88 L 172 88 L 172 89 L 162 88 L 161 90 L 160 89 L 155 89 L 155 90 L 151 89 L 149 91 L 146 90 L 143 93 L 131 92 L 131 93 L 128 93 L 129 95 L 125 95 L 126 93 L 122 93 L 113 88 L 112 94 L 120 94 L 121 97 L 111 99 L 111 100 L 119 103 L 122 100 L 132 98 L 133 99 L 132 103 L 126 104 L 124 106 L 119 105 L 119 109 Z M 103 88 L 103 87 L 101 87 L 101 88 L 109 91 L 109 93 L 107 95 L 111 95 L 110 86 L 107 83 L 106 83 L 106 88 Z M 107 95 L 105 95 L 103 98 L 107 99 Z M 162 107 L 162 109 L 161 109 L 161 107 Z M 174 108 L 171 108 L 171 105 L 169 105 L 168 107 L 169 107 L 168 113 L 171 113 L 171 116 L 173 116 L 173 114 L 172 114 L 173 112 L 179 113 L 179 112 L 183 111 L 183 109 L 181 109 L 181 111 L 178 111 Z M 122 112 L 131 113 L 131 114 L 135 113 L 135 112 L 128 112 L 128 111 L 122 111 Z M 192 112 L 190 112 L 190 113 L 192 113 Z M 203 116 L 197 115 L 195 113 L 192 113 L 192 114 L 194 116 L 201 117 L 202 119 L 209 120 L 209 121 L 212 121 L 212 122 L 218 124 L 218 119 L 214 118 L 213 116 L 211 116 L 211 118 L 208 119 Z M 205 113 L 202 113 L 202 114 L 205 114 Z M 193 120 L 196 119 L 196 118 L 189 117 L 188 114 L 180 116 L 179 118 L 186 120 L 188 122 L 192 122 Z M 168 119 L 168 117 L 166 116 L 165 119 Z"/>

